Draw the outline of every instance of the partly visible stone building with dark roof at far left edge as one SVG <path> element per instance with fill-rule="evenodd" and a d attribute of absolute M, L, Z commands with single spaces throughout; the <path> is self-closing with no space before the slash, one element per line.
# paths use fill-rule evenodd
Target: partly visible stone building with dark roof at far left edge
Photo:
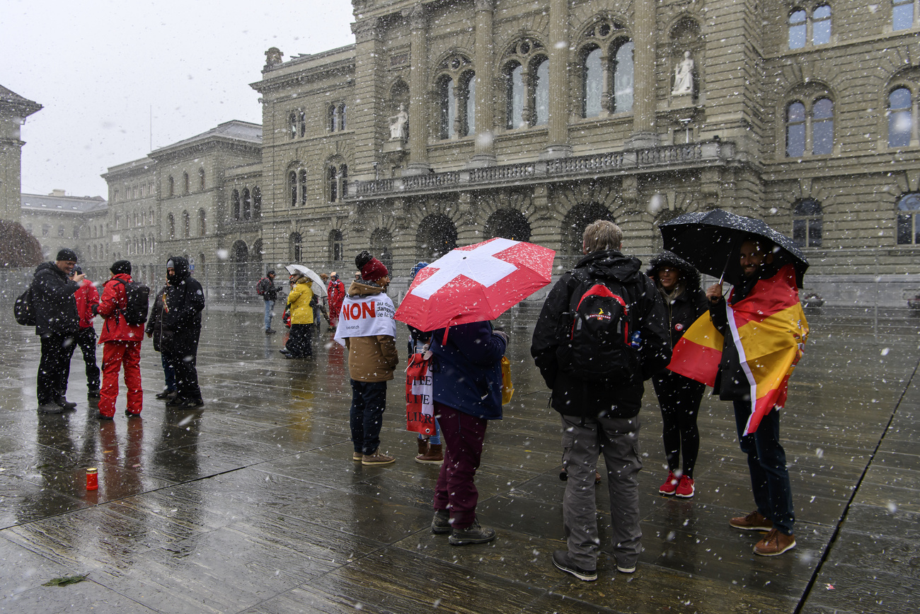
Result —
<path fill-rule="evenodd" d="M 0 86 L 0 219 L 19 221 L 22 145 L 19 127 L 41 105 Z"/>

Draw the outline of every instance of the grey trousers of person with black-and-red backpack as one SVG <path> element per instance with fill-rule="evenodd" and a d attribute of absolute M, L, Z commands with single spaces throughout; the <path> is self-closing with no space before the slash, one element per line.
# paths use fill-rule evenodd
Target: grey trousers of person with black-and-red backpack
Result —
<path fill-rule="evenodd" d="M 641 551 L 638 525 L 638 416 L 634 418 L 580 418 L 562 416 L 562 438 L 570 443 L 565 462 L 569 472 L 562 517 L 569 557 L 581 569 L 597 569 L 601 540 L 597 532 L 594 471 L 598 455 L 604 454 L 610 517 L 616 563 L 632 567 Z"/>

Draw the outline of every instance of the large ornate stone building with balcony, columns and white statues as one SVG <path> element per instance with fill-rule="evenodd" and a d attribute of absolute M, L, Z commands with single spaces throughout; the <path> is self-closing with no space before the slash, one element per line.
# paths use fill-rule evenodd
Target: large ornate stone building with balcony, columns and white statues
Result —
<path fill-rule="evenodd" d="M 270 261 L 504 236 L 568 263 L 598 217 L 648 255 L 723 207 L 796 237 L 818 283 L 920 273 L 915 0 L 353 5 L 353 45 L 272 49 L 253 84 Z"/>

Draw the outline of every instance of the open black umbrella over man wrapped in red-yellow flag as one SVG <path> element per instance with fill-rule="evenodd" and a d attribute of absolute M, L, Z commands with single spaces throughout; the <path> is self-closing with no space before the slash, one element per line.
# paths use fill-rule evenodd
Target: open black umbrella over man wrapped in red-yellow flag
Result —
<path fill-rule="evenodd" d="M 808 261 L 792 239 L 776 232 L 763 220 L 731 214 L 722 209 L 683 214 L 661 224 L 664 249 L 669 249 L 693 264 L 700 272 L 738 284 L 742 278 L 739 249 L 751 237 L 764 237 L 774 243 L 774 265 L 792 264 L 796 283 L 802 285 L 802 275 Z"/>

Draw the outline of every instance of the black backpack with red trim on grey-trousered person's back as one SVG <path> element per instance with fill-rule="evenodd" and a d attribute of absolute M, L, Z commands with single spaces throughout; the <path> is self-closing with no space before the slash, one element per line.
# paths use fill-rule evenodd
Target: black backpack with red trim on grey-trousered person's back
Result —
<path fill-rule="evenodd" d="M 636 318 L 627 286 L 615 279 L 581 278 L 570 310 L 562 314 L 559 368 L 585 381 L 625 384 L 642 381 Z"/>

